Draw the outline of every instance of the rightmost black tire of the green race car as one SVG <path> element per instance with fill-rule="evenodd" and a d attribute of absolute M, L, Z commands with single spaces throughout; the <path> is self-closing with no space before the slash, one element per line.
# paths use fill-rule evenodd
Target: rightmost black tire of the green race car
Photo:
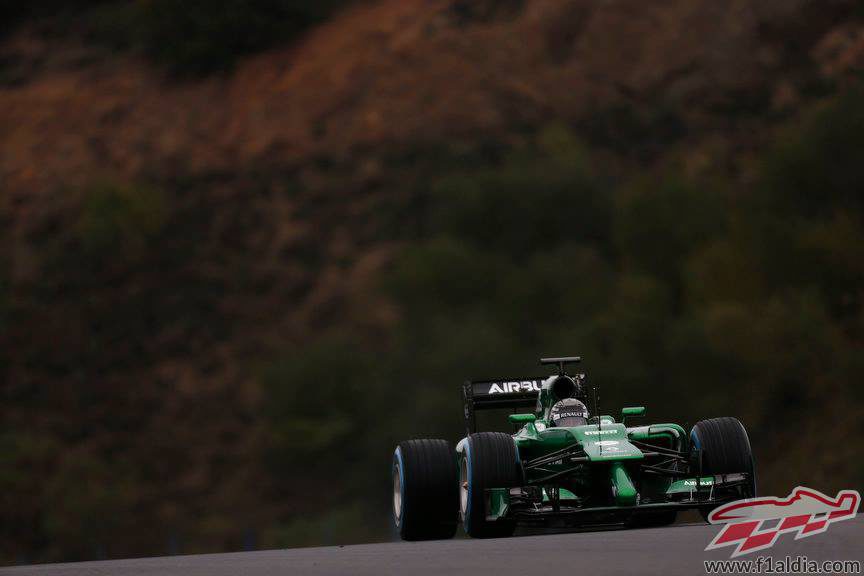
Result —
<path fill-rule="evenodd" d="M 756 463 L 750 437 L 737 418 L 727 416 L 697 422 L 690 431 L 690 444 L 695 449 L 695 471 L 701 469 L 704 476 L 745 472 L 750 482 L 742 490 L 741 498 L 756 496 Z M 697 458 L 701 458 L 701 464 Z M 710 511 L 700 512 L 707 520 Z"/>

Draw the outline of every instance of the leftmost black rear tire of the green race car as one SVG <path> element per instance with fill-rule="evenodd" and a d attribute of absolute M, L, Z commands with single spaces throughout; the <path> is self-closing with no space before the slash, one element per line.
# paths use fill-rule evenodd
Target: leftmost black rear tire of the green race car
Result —
<path fill-rule="evenodd" d="M 403 540 L 442 540 L 456 533 L 458 473 L 448 441 L 399 443 L 393 454 L 393 522 Z"/>

